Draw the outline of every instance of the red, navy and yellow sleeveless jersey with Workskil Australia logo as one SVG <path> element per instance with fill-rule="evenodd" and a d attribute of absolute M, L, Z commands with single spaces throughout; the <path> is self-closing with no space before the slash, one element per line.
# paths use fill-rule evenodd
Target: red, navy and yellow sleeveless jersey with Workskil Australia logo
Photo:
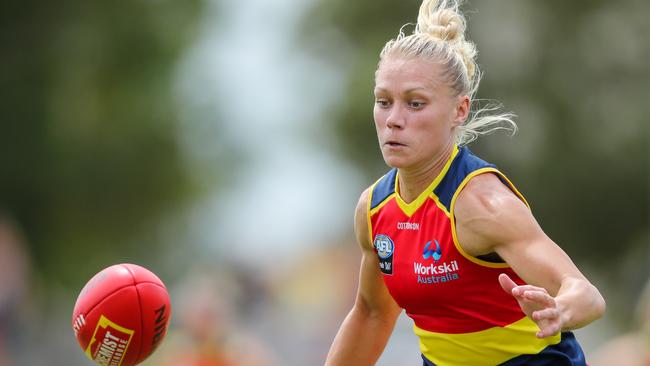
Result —
<path fill-rule="evenodd" d="M 397 169 L 370 190 L 368 225 L 382 277 L 414 321 L 425 365 L 534 365 L 517 360 L 557 348 L 563 338 L 575 343 L 571 334 L 538 339 L 537 325 L 503 291 L 498 276 L 506 273 L 518 284 L 524 281 L 507 264 L 470 256 L 458 243 L 455 201 L 472 177 L 484 173 L 496 174 L 526 202 L 494 165 L 457 146 L 413 202 L 406 203 L 398 193 Z M 577 343 L 569 346 L 582 355 Z"/>

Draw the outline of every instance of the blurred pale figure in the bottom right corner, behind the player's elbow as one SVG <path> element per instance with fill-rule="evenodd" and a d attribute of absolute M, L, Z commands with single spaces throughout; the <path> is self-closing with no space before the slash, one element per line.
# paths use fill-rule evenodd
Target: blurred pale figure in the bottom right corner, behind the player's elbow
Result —
<path fill-rule="evenodd" d="M 622 334 L 603 345 L 594 355 L 592 366 L 650 366 L 650 279 L 636 309 L 638 329 Z"/>

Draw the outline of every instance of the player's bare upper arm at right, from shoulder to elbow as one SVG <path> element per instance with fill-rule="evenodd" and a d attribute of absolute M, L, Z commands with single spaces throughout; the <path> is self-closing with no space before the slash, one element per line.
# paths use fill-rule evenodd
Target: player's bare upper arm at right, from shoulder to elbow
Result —
<path fill-rule="evenodd" d="M 474 179 L 457 204 L 459 239 L 468 240 L 471 250 L 496 252 L 526 283 L 552 294 L 566 277 L 584 278 L 544 233 L 530 209 L 496 176 L 484 174 Z"/>

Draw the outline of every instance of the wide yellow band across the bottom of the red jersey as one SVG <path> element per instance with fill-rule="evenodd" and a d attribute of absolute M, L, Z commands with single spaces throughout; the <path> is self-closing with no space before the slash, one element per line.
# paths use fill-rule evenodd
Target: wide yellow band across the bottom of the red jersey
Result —
<path fill-rule="evenodd" d="M 437 366 L 497 365 L 522 354 L 537 354 L 560 343 L 561 336 L 539 339 L 537 324 L 524 316 L 505 327 L 473 333 L 434 333 L 413 326 L 420 351 Z"/>

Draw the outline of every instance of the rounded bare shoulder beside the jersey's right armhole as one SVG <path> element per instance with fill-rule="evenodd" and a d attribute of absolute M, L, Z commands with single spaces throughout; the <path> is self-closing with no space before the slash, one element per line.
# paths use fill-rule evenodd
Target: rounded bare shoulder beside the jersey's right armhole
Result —
<path fill-rule="evenodd" d="M 528 206 L 495 174 L 472 178 L 458 195 L 454 207 L 458 239 L 472 255 L 495 251 L 516 240 L 521 229 L 536 230 Z"/>

